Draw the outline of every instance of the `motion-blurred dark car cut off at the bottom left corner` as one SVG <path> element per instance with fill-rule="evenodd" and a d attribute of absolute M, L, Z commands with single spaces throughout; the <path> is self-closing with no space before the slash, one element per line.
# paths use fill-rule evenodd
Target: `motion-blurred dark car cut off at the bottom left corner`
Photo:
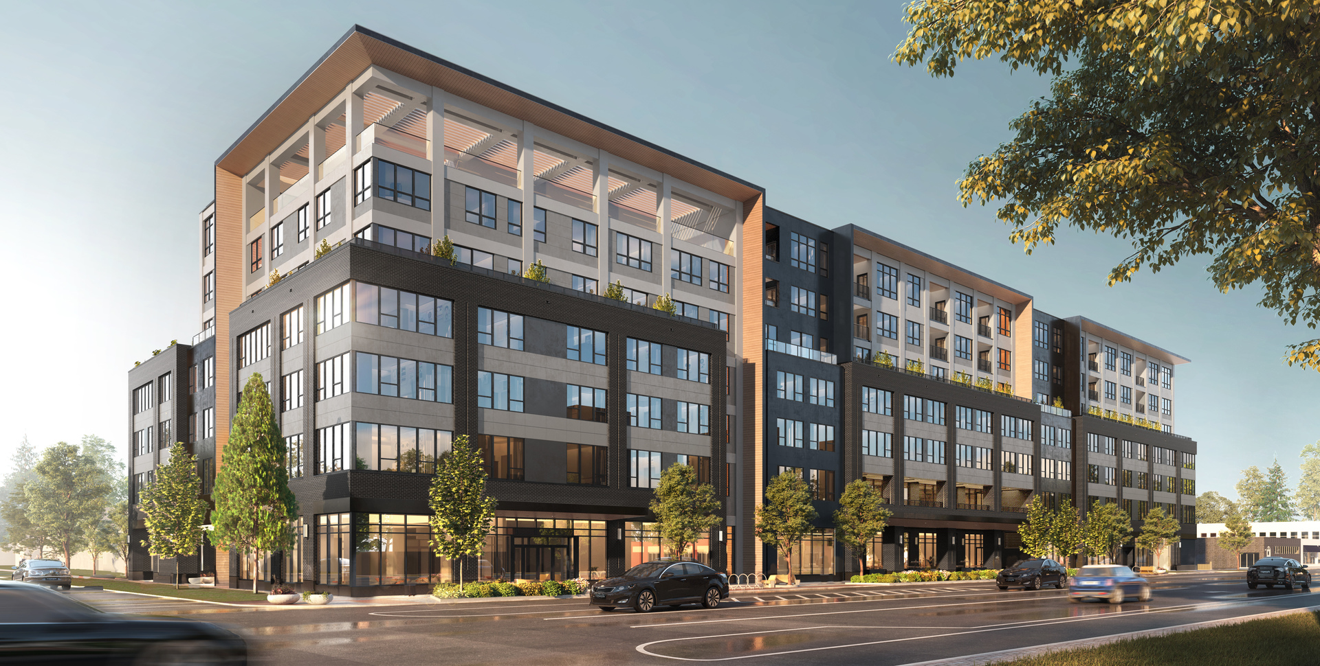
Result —
<path fill-rule="evenodd" d="M 242 666 L 247 646 L 211 624 L 106 613 L 46 587 L 0 580 L 0 663 Z"/>

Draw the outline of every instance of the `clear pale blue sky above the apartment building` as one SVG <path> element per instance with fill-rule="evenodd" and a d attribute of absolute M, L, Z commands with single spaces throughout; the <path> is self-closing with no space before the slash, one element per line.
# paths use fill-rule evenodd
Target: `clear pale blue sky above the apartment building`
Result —
<path fill-rule="evenodd" d="M 826 227 L 858 224 L 1192 359 L 1177 431 L 1199 492 L 1320 439 L 1313 331 L 1220 294 L 1204 258 L 1105 285 L 1123 243 L 1068 232 L 1024 256 L 962 208 L 969 161 L 1047 82 L 888 61 L 896 0 L 870 3 L 11 3 L 0 9 L 0 460 L 24 435 L 121 450 L 127 371 L 199 328 L 197 214 L 213 164 L 354 22 L 751 181 Z"/>

